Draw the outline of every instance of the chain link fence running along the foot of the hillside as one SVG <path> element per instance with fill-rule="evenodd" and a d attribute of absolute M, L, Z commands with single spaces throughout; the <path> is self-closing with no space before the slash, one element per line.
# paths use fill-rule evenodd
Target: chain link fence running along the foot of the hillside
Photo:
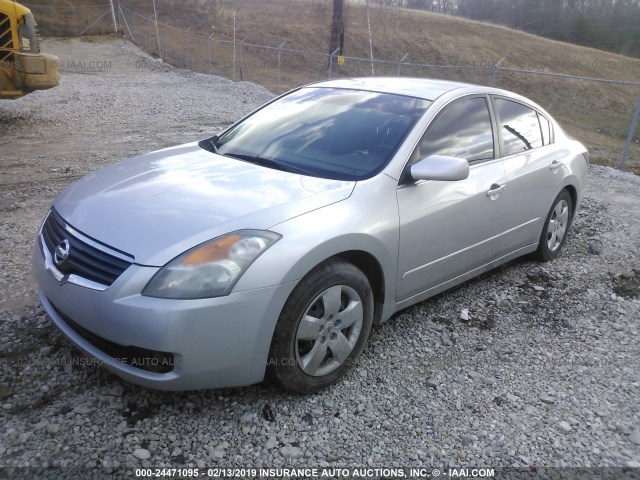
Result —
<path fill-rule="evenodd" d="M 258 83 L 274 93 L 327 78 L 370 75 L 438 78 L 504 88 L 544 106 L 588 146 L 594 161 L 627 167 L 640 174 L 640 133 L 636 134 L 640 81 L 503 68 L 500 59 L 495 65 L 429 65 L 407 61 L 411 52 L 399 54 L 396 60 L 380 60 L 293 49 L 286 42 L 256 45 L 246 38 L 219 39 L 213 34 L 207 37 L 191 28 L 156 22 L 119 1 L 113 2 L 113 11 L 111 3 L 26 5 L 33 10 L 44 35 L 117 31 L 178 68 Z M 607 67 L 608 73 L 631 69 L 640 77 L 637 59 Z"/>

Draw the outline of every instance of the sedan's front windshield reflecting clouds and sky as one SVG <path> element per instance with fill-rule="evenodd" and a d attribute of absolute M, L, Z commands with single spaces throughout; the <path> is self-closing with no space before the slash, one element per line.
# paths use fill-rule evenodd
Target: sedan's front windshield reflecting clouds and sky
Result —
<path fill-rule="evenodd" d="M 430 104 L 388 93 L 302 88 L 200 145 L 269 168 L 362 180 L 387 165 Z"/>

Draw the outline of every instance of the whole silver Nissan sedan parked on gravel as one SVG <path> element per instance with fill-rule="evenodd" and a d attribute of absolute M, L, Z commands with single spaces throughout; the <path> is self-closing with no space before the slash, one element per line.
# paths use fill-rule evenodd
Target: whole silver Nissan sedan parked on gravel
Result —
<path fill-rule="evenodd" d="M 338 381 L 372 325 L 556 257 L 589 156 L 540 106 L 425 79 L 305 86 L 53 202 L 40 298 L 85 353 L 166 390 Z"/>

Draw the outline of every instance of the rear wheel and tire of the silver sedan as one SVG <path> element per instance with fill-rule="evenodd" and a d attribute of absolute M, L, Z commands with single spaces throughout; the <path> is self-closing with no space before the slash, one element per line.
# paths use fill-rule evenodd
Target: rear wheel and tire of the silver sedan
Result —
<path fill-rule="evenodd" d="M 540 261 L 548 262 L 560 254 L 567 239 L 572 218 L 573 201 L 569 192 L 563 190 L 553 201 L 540 234 L 540 242 L 536 252 Z"/>

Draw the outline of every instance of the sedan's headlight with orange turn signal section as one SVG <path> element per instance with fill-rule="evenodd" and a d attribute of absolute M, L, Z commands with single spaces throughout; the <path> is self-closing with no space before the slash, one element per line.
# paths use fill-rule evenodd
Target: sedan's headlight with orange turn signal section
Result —
<path fill-rule="evenodd" d="M 249 266 L 280 238 L 264 230 L 240 230 L 214 238 L 167 263 L 142 294 L 176 299 L 228 295 Z"/>

